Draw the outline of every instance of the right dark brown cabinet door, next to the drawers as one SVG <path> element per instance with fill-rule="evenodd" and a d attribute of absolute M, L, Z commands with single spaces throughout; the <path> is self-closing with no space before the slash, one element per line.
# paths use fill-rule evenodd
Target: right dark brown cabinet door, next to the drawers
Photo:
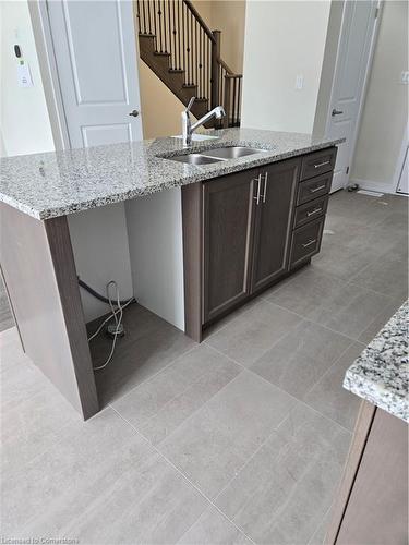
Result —
<path fill-rule="evenodd" d="M 260 169 L 261 198 L 255 205 L 252 292 L 287 270 L 291 220 L 300 159 Z"/>

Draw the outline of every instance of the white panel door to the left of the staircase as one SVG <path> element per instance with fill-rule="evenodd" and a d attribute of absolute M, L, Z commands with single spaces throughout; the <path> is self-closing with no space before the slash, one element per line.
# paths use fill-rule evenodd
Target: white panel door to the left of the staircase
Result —
<path fill-rule="evenodd" d="M 47 5 L 71 147 L 141 140 L 132 1 Z"/>

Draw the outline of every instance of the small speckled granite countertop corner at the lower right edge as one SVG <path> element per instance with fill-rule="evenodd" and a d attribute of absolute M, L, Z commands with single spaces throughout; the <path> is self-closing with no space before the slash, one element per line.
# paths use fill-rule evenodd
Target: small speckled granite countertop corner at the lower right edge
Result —
<path fill-rule="evenodd" d="M 409 423 L 408 301 L 349 367 L 344 387 Z"/>

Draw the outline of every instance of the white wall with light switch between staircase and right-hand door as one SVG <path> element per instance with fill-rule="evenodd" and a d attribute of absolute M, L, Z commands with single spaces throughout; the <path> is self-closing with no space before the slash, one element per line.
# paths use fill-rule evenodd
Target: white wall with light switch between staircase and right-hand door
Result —
<path fill-rule="evenodd" d="M 312 132 L 329 9 L 329 0 L 248 2 L 242 126 Z"/>

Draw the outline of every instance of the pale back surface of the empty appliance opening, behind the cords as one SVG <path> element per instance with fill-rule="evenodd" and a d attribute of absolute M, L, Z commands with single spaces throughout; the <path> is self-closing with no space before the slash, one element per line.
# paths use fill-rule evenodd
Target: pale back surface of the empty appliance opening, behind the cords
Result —
<path fill-rule="evenodd" d="M 68 219 L 80 278 L 103 295 L 107 283 L 116 280 L 120 298 L 130 299 L 133 287 L 124 204 L 72 214 Z M 108 305 L 80 291 L 86 322 L 109 312 Z"/>

